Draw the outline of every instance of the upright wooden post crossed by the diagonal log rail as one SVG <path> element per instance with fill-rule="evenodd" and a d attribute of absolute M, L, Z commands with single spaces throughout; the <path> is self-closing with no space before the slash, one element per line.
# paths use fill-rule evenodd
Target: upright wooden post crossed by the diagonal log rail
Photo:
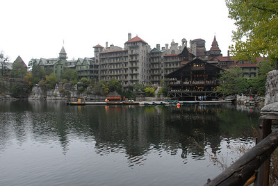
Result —
<path fill-rule="evenodd" d="M 259 118 L 259 129 L 257 142 L 261 142 L 265 137 L 271 133 L 272 120 L 268 117 Z M 256 174 L 255 186 L 268 186 L 269 185 L 269 170 L 270 170 L 270 157 L 261 164 L 259 171 Z"/>

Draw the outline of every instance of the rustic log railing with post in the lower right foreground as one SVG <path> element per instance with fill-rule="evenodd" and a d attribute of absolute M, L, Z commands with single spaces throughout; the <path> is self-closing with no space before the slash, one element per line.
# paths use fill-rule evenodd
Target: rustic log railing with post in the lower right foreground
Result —
<path fill-rule="evenodd" d="M 270 155 L 278 146 L 278 130 L 271 133 L 273 119 L 277 117 L 260 117 L 258 144 L 213 180 L 208 179 L 205 185 L 245 185 L 255 175 L 255 186 L 267 186 Z"/>

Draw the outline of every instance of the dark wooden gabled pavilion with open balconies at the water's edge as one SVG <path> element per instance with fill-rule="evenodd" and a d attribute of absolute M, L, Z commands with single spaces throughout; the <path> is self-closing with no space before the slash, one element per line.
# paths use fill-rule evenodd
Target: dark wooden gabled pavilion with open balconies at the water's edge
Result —
<path fill-rule="evenodd" d="M 199 100 L 199 96 L 206 100 L 218 99 L 220 92 L 215 89 L 220 85 L 218 78 L 221 67 L 212 65 L 201 59 L 195 59 L 186 65 L 168 74 L 168 96 L 180 100 Z"/>

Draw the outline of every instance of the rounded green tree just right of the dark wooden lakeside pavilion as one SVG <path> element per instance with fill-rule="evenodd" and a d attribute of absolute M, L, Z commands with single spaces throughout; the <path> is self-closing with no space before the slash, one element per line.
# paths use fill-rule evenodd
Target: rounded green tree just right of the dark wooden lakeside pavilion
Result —
<path fill-rule="evenodd" d="M 229 71 L 220 71 L 219 81 L 222 81 L 218 92 L 224 95 L 240 94 L 247 90 L 247 79 L 243 78 L 240 67 L 231 67 Z"/>

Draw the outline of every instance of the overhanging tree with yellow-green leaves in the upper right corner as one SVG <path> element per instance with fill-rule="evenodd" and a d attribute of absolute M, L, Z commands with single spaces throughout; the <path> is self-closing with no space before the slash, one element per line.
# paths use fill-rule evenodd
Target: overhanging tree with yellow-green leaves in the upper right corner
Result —
<path fill-rule="evenodd" d="M 235 20 L 234 45 L 231 54 L 238 59 L 252 59 L 261 55 L 276 62 L 278 68 L 278 1 L 226 0 L 229 18 Z"/>

